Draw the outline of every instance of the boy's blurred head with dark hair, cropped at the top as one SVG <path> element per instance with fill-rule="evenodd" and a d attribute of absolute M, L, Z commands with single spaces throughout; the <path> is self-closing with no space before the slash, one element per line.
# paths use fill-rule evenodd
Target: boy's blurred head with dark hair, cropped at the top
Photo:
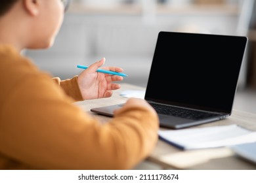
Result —
<path fill-rule="evenodd" d="M 0 44 L 49 48 L 64 18 L 65 0 L 1 0 Z"/>

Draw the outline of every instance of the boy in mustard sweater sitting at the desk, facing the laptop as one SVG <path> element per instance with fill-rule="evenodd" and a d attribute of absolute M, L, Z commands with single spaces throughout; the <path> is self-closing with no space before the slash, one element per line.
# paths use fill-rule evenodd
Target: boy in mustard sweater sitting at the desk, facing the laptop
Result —
<path fill-rule="evenodd" d="M 1 0 L 0 169 L 131 169 L 158 141 L 154 109 L 129 99 L 100 124 L 73 103 L 120 88 L 121 76 L 96 72 L 104 59 L 61 81 L 19 54 L 52 46 L 63 17 L 60 0 Z"/>

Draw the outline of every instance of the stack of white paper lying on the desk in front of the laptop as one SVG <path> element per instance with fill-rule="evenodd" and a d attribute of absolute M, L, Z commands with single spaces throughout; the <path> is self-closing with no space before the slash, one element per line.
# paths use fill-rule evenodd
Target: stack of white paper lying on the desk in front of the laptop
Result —
<path fill-rule="evenodd" d="M 238 125 L 223 125 L 193 129 L 160 130 L 160 139 L 183 150 L 216 148 L 256 142 L 256 132 Z"/>

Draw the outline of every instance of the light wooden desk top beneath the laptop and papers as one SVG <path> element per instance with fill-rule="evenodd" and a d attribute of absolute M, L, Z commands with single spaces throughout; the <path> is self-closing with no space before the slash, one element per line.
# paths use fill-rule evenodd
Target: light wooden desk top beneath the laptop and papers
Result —
<path fill-rule="evenodd" d="M 144 90 L 144 88 L 131 84 L 121 84 L 121 89 L 114 91 L 110 98 L 81 101 L 75 104 L 88 112 L 94 107 L 123 103 L 127 98 L 119 96 L 119 93 L 124 90 Z M 110 119 L 106 116 L 91 114 L 102 122 L 107 122 Z M 256 131 L 256 114 L 234 109 L 232 115 L 224 120 L 195 127 L 230 124 L 238 124 L 246 129 Z M 156 148 L 146 161 L 156 163 L 162 169 L 256 169 L 256 165 L 236 157 L 229 148 L 182 151 L 161 140 L 158 141 Z"/>

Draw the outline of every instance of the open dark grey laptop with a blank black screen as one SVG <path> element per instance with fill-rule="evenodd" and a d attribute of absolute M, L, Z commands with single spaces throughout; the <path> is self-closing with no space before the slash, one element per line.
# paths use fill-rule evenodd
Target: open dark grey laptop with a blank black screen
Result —
<path fill-rule="evenodd" d="M 181 129 L 231 115 L 247 37 L 160 31 L 144 99 L 160 126 Z M 91 108 L 113 116 L 121 105 Z"/>

